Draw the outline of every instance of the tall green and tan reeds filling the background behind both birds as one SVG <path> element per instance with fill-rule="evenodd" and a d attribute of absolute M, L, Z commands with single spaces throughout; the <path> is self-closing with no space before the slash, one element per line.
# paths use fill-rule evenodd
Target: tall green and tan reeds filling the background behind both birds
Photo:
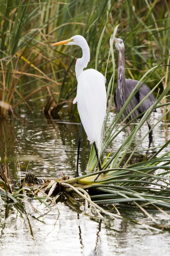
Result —
<path fill-rule="evenodd" d="M 162 64 L 169 64 L 165 58 L 170 49 L 167 1 L 160 4 L 156 0 L 140 3 L 136 0 L 64 3 L 2 0 L 0 24 L 0 116 L 3 117 L 13 113 L 22 102 L 28 105 L 27 99 L 35 98 L 36 93 L 47 97 L 45 110 L 54 108 L 53 115 L 74 98 L 77 88 L 74 65 L 81 51 L 77 47 L 54 49 L 51 44 L 75 34 L 85 36 L 88 41 L 89 68 L 95 67 L 98 52 L 97 69 L 106 73 L 108 81 L 113 74 L 112 60 L 108 59 L 109 40 L 117 24 L 120 26 L 116 35 L 125 41 L 127 78 L 139 80 L 162 60 Z M 166 80 L 159 84 L 162 92 L 169 81 L 168 66 L 155 70 L 147 85 L 153 88 L 165 74 Z M 113 91 L 115 87 L 116 83 Z M 77 108 L 69 105 L 69 114 L 77 114 Z"/>

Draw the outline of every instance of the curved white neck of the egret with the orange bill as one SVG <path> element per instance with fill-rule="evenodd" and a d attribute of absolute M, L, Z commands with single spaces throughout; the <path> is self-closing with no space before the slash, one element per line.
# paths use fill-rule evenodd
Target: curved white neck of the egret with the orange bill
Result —
<path fill-rule="evenodd" d="M 79 75 L 83 72 L 83 69 L 87 67 L 88 62 L 90 61 L 90 49 L 86 41 L 82 42 L 79 45 L 82 48 L 82 58 L 77 59 L 76 61 L 76 78 L 78 79 Z"/>

